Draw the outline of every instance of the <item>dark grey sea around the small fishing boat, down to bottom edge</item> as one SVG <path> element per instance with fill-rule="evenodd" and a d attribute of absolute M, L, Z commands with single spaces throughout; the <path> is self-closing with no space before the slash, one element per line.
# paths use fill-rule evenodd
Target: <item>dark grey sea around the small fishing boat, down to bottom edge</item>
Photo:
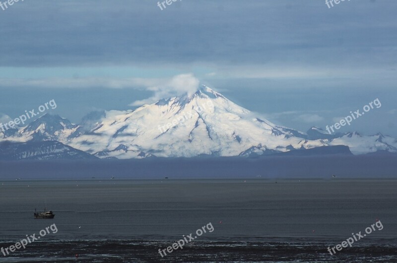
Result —
<path fill-rule="evenodd" d="M 0 262 L 397 262 L 396 189 L 394 179 L 0 179 L 1 247 L 58 230 Z M 34 219 L 45 200 L 55 218 Z M 377 220 L 383 229 L 327 251 Z"/>

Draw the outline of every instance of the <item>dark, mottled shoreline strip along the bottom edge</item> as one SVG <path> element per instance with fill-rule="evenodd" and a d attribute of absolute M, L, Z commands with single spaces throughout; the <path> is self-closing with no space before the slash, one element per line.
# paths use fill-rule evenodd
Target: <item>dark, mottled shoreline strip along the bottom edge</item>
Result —
<path fill-rule="evenodd" d="M 196 241 L 163 258 L 158 249 L 166 241 L 99 240 L 36 242 L 0 262 L 391 262 L 397 245 L 357 244 L 336 255 L 327 252 L 326 243 Z M 78 256 L 76 260 L 75 255 Z M 3 255 L 0 255 L 3 256 Z"/>

